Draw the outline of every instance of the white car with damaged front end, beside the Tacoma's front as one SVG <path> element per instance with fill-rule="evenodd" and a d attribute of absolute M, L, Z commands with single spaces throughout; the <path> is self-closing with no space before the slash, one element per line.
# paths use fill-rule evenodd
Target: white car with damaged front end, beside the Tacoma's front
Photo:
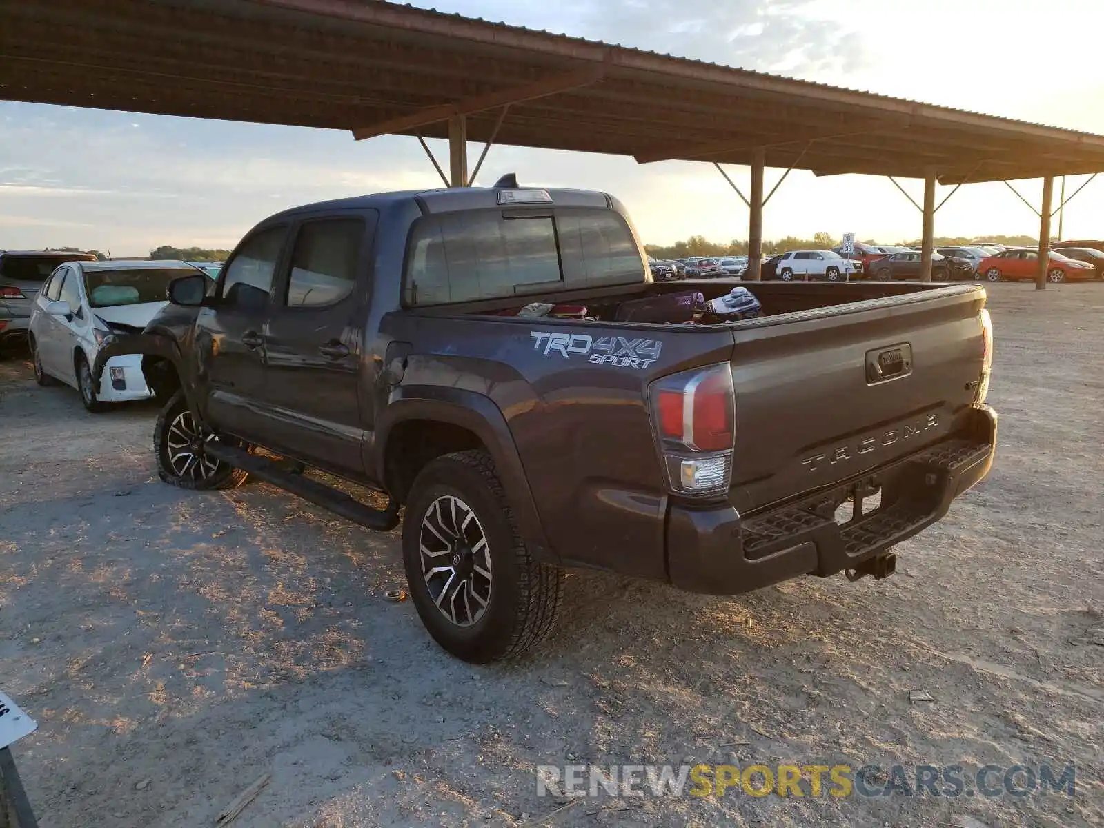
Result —
<path fill-rule="evenodd" d="M 115 336 L 140 333 L 166 306 L 169 283 L 200 272 L 183 262 L 66 262 L 42 286 L 31 310 L 34 379 L 61 381 L 81 392 L 84 407 L 153 396 L 141 355 L 113 357 L 94 382 L 99 348 Z"/>

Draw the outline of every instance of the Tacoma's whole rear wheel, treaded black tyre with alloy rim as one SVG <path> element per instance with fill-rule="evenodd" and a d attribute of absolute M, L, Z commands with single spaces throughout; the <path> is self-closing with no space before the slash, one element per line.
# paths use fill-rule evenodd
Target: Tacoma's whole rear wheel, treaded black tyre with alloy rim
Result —
<path fill-rule="evenodd" d="M 439 512 L 442 503 L 449 506 Z M 403 516 L 403 563 L 429 635 L 471 664 L 522 655 L 544 639 L 560 612 L 563 571 L 526 548 L 486 452 L 445 455 L 418 474 Z M 458 607 L 461 592 L 466 606 Z"/>

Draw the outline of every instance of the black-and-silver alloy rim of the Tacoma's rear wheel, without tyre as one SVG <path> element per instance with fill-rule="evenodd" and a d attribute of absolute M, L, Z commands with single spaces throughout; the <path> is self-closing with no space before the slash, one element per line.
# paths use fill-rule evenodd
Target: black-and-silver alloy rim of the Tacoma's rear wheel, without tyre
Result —
<path fill-rule="evenodd" d="M 493 587 L 487 534 L 460 498 L 443 495 L 422 517 L 422 574 L 434 605 L 448 620 L 470 627 L 482 618 Z"/>

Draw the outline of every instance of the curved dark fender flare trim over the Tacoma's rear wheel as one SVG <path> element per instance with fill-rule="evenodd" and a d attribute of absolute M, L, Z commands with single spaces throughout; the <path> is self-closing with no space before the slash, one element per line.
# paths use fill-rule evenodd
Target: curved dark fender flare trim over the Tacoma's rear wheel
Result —
<path fill-rule="evenodd" d="M 408 420 L 449 423 L 479 437 L 495 460 L 495 468 L 526 545 L 535 558 L 548 563 L 560 563 L 541 526 L 513 435 L 502 412 L 490 397 L 454 388 L 422 385 L 394 389 L 376 421 L 371 442 L 365 445 L 364 465 L 374 479 L 386 481 L 384 460 L 388 437 L 396 425 Z"/>

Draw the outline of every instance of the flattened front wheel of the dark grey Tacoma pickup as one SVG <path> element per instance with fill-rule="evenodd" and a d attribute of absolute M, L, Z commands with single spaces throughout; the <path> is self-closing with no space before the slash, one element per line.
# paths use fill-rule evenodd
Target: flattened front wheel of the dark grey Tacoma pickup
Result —
<path fill-rule="evenodd" d="M 193 439 L 191 446 L 188 446 L 185 438 Z M 178 391 L 161 408 L 153 426 L 153 458 L 157 461 L 158 477 L 170 486 L 192 491 L 233 489 L 241 486 L 250 476 L 247 471 L 233 468 L 222 460 L 212 459 L 204 455 L 202 449 L 194 450 L 195 445 L 212 438 L 210 435 L 204 435 L 202 429 L 197 429 L 195 417 L 188 407 L 184 392 Z M 173 452 L 173 448 L 178 450 Z"/>

